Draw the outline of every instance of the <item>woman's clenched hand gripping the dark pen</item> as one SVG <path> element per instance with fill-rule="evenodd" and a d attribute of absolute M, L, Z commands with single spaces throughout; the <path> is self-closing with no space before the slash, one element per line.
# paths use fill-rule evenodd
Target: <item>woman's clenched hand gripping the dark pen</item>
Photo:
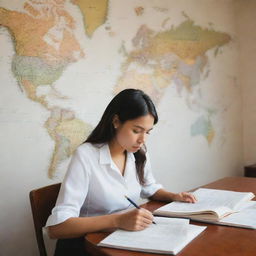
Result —
<path fill-rule="evenodd" d="M 117 227 L 124 230 L 143 230 L 152 224 L 152 221 L 152 213 L 144 208 L 134 209 L 117 215 Z"/>

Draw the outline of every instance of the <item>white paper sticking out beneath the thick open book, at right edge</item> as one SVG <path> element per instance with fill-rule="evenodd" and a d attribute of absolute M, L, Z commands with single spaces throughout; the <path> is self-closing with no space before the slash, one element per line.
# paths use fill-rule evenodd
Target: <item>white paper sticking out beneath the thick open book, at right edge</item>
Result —
<path fill-rule="evenodd" d="M 241 211 L 221 219 L 221 223 L 256 229 L 256 201 L 241 205 Z"/>

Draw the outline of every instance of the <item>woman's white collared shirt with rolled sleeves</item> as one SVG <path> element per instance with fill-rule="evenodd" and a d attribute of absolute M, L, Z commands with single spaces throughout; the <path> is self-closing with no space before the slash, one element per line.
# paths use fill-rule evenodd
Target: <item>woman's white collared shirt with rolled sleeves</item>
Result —
<path fill-rule="evenodd" d="M 162 186 L 155 183 L 147 155 L 145 185 L 140 185 L 133 153 L 127 153 L 124 175 L 113 162 L 108 144 L 84 143 L 73 155 L 46 227 L 71 217 L 111 214 L 128 209 L 139 197 L 148 198 Z"/>

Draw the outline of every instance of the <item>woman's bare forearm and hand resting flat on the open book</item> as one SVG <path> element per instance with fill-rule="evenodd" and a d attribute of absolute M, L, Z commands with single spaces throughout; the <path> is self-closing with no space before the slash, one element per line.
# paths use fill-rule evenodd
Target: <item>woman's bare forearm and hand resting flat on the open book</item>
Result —
<path fill-rule="evenodd" d="M 195 196 L 189 192 L 172 193 L 162 188 L 157 190 L 149 199 L 164 202 L 181 201 L 187 203 L 195 203 L 197 201 Z"/>

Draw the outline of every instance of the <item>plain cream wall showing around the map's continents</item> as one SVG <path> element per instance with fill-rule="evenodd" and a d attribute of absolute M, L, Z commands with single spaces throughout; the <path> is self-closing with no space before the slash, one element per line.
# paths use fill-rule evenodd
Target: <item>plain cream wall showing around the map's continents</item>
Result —
<path fill-rule="evenodd" d="M 21 10 L 21 2 L 0 0 L 0 6 Z M 148 141 L 154 174 L 174 192 L 224 176 L 242 175 L 244 163 L 256 161 L 256 38 L 253 32 L 256 1 L 110 0 L 110 3 L 109 24 L 115 29 L 116 37 L 109 36 L 107 26 L 102 26 L 91 39 L 84 35 L 81 13 L 67 5 L 80 26 L 75 33 L 86 50 L 86 58 L 70 65 L 55 82 L 57 89 L 71 99 L 53 100 L 52 104 L 70 107 L 79 118 L 95 125 L 113 97 L 112 89 L 121 73 L 125 57 L 118 50 L 122 40 L 129 48 L 141 24 L 146 23 L 156 31 L 163 24 L 177 26 L 185 20 L 185 12 L 196 25 L 212 26 L 232 37 L 217 56 L 215 49 L 207 51 L 208 65 L 198 84 L 204 96 L 199 103 L 214 107 L 216 112 L 212 118 L 216 136 L 211 144 L 203 136 L 191 136 L 189 127 L 200 116 L 200 111 L 189 109 L 185 95 L 179 95 L 172 83 L 157 106 L 160 121 Z M 126 5 L 130 5 L 129 8 Z M 133 7 L 138 5 L 145 6 L 145 16 L 135 16 Z M 159 6 L 162 9 L 155 11 Z M 11 72 L 14 46 L 9 31 L 0 29 L 0 256 L 35 256 L 39 254 L 29 191 L 61 181 L 69 160 L 59 166 L 59 176 L 53 180 L 47 177 L 54 150 L 54 141 L 44 128 L 49 112 L 20 90 Z M 106 40 L 104 47 L 102 36 Z"/>

